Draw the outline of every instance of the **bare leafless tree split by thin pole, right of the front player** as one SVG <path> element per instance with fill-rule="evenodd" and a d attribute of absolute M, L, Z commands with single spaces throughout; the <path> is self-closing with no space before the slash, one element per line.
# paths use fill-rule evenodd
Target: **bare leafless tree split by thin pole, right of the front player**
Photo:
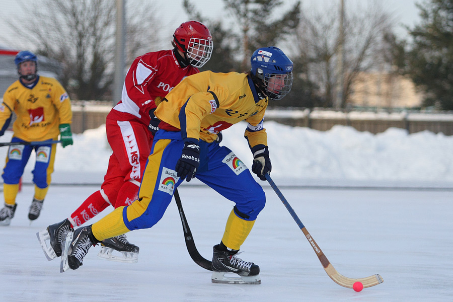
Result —
<path fill-rule="evenodd" d="M 298 60 L 307 64 L 307 78 L 319 86 L 324 107 L 332 107 L 335 98 L 335 72 L 338 59 L 337 48 L 339 7 L 332 4 L 322 12 L 316 9 L 303 10 L 296 37 L 294 52 Z M 366 8 L 347 7 L 343 36 L 343 94 L 340 106 L 345 107 L 351 94 L 351 85 L 362 71 L 382 68 L 385 64 L 385 39 L 392 31 L 391 14 L 384 11 L 379 1 Z"/>

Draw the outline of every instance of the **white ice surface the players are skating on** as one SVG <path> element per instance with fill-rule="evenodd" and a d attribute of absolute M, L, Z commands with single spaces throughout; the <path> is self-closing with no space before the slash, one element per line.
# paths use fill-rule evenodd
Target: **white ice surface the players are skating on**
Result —
<path fill-rule="evenodd" d="M 210 272 L 186 251 L 174 202 L 152 229 L 127 234 L 140 247 L 138 263 L 102 260 L 94 247 L 82 267 L 60 274 L 59 258 L 47 261 L 35 234 L 64 219 L 96 189 L 51 187 L 41 216 L 30 226 L 33 187 L 23 187 L 11 225 L 0 228 L 2 301 L 425 302 L 453 296 L 451 191 L 282 189 L 338 272 L 384 278 L 354 292 L 328 277 L 270 187 L 241 255 L 260 265 L 261 285 L 211 283 Z M 198 250 L 210 259 L 233 203 L 201 186 L 183 185 L 180 194 Z M 110 208 L 98 217 L 107 212 Z"/>

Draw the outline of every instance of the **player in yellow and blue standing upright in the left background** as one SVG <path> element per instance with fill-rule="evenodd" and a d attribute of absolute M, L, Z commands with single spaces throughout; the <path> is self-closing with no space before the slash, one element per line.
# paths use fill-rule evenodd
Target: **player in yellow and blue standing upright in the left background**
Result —
<path fill-rule="evenodd" d="M 13 124 L 11 141 L 23 144 L 12 145 L 8 150 L 2 174 L 5 207 L 0 210 L 0 225 L 9 225 L 14 217 L 19 180 L 32 150 L 36 152 L 33 170 L 35 195 L 28 218 L 35 220 L 41 212 L 55 161 L 56 144 L 46 141 L 56 140 L 61 134 L 63 147 L 72 144 L 72 112 L 66 91 L 57 80 L 37 74 L 38 59 L 34 53 L 21 51 L 14 62 L 20 77 L 3 96 L 3 103 L 0 105 L 0 136 L 8 128 L 14 112 L 17 119 Z M 30 142 L 33 144 L 28 144 Z"/>

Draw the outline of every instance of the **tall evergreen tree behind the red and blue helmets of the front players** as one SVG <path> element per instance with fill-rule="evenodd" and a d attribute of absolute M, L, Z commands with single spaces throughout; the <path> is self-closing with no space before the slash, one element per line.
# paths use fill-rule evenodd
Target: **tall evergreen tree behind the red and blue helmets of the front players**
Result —
<path fill-rule="evenodd" d="M 223 0 L 225 12 L 234 20 L 234 28 L 223 28 L 221 21 L 212 21 L 201 16 L 189 0 L 184 8 L 189 18 L 204 23 L 212 34 L 214 51 L 202 70 L 217 72 L 243 72 L 250 68 L 250 57 L 257 48 L 277 46 L 286 39 L 293 39 L 300 21 L 300 2 L 287 12 L 282 12 L 280 0 Z M 278 12 L 278 14 L 276 13 Z M 239 28 L 239 32 L 238 32 Z M 286 53 L 287 49 L 283 49 Z M 288 56 L 294 62 L 294 82 L 291 92 L 272 106 L 313 107 L 317 102 L 314 85 L 303 77 L 305 64 L 297 57 Z"/>

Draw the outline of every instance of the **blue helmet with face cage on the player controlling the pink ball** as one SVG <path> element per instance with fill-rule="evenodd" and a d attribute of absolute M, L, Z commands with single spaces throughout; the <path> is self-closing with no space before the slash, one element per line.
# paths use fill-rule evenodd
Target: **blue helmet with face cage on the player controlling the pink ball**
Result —
<path fill-rule="evenodd" d="M 281 100 L 291 91 L 293 63 L 281 49 L 274 46 L 258 48 L 250 61 L 251 72 L 262 80 L 269 99 Z"/>

